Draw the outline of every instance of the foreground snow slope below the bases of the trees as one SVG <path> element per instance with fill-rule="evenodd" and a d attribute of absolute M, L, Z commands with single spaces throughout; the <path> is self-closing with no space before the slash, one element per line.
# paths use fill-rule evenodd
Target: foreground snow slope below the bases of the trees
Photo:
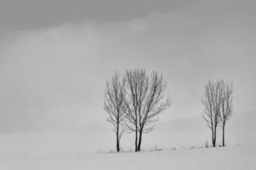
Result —
<path fill-rule="evenodd" d="M 1 152 L 0 168 L 9 170 L 84 169 L 232 169 L 256 167 L 255 146 L 217 149 L 162 150 L 140 153 L 90 154 L 83 152 Z"/>

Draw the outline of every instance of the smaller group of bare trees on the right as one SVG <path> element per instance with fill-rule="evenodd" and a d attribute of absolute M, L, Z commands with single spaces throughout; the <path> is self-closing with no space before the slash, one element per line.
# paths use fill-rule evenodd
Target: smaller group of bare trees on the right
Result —
<path fill-rule="evenodd" d="M 213 147 L 216 146 L 218 127 L 222 129 L 222 145 L 225 146 L 225 125 L 232 116 L 232 84 L 223 80 L 208 81 L 202 99 L 204 105 L 203 118 L 212 133 Z"/>

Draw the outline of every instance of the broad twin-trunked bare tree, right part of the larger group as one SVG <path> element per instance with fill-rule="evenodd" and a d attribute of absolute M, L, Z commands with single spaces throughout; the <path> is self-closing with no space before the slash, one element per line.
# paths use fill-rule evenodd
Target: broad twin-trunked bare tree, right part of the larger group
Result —
<path fill-rule="evenodd" d="M 145 70 L 126 71 L 126 123 L 128 131 L 135 134 L 135 151 L 140 150 L 142 134 L 150 132 L 158 116 L 170 106 L 170 99 L 165 96 L 165 83 L 162 75 L 153 71 L 151 77 Z"/>

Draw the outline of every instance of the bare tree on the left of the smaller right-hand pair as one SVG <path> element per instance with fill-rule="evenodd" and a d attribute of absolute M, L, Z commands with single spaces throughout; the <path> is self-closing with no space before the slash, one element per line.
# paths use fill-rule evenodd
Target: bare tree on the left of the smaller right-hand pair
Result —
<path fill-rule="evenodd" d="M 202 99 L 204 105 L 203 118 L 212 132 L 213 147 L 216 145 L 217 127 L 220 122 L 221 106 L 223 104 L 223 81 L 208 81 Z"/>

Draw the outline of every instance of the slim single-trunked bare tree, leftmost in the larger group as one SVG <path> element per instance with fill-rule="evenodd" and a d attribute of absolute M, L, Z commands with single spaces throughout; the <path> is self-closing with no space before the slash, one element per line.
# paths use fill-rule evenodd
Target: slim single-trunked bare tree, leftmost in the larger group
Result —
<path fill-rule="evenodd" d="M 108 121 L 114 126 L 117 136 L 117 152 L 120 151 L 120 139 L 122 137 L 122 123 L 125 118 L 125 82 L 120 80 L 116 72 L 110 82 L 106 82 L 104 109 L 109 114 Z"/>

